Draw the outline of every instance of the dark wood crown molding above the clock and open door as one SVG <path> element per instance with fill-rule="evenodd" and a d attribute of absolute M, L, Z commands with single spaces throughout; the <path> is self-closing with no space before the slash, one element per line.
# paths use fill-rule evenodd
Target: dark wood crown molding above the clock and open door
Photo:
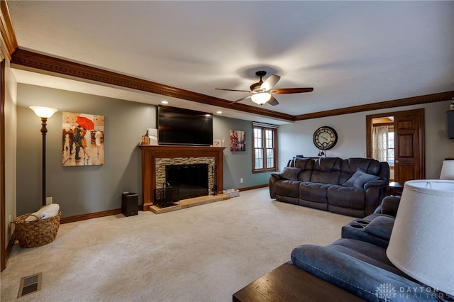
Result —
<path fill-rule="evenodd" d="M 426 103 L 434 103 L 438 101 L 448 101 L 454 98 L 454 91 L 446 91 L 438 94 L 426 94 L 424 96 L 412 96 L 405 99 L 397 99 L 392 101 L 382 101 L 378 103 L 365 104 L 359 106 L 351 106 L 338 108 L 327 111 L 319 111 L 314 113 L 301 114 L 294 116 L 295 121 L 310 120 L 312 118 L 326 118 L 328 116 L 340 116 L 348 113 L 358 113 L 364 111 L 372 111 L 378 109 L 395 108 L 402 106 L 419 105 Z"/>

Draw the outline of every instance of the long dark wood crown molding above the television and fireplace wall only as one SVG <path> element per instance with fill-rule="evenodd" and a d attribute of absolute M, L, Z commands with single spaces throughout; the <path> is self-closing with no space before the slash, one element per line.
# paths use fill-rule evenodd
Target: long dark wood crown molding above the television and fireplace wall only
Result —
<path fill-rule="evenodd" d="M 13 52 L 11 57 L 11 66 L 14 65 L 50 72 L 51 74 L 65 75 L 66 77 L 72 77 L 74 79 L 84 79 L 89 82 L 121 86 L 128 89 L 150 92 L 152 94 L 160 94 L 177 99 L 194 101 L 201 104 L 229 108 L 258 114 L 260 116 L 268 116 L 270 118 L 277 118 L 284 121 L 294 121 L 294 116 L 289 114 L 279 113 L 255 106 L 248 106 L 245 104 L 231 104 L 231 101 L 219 99 L 214 96 L 207 96 L 205 94 L 179 89 L 174 86 L 167 86 L 145 79 L 138 79 L 125 74 L 119 74 L 88 65 L 82 65 L 77 62 L 71 62 L 57 57 L 31 52 L 29 50 L 22 50 L 21 48 L 18 48 L 15 52 Z"/>

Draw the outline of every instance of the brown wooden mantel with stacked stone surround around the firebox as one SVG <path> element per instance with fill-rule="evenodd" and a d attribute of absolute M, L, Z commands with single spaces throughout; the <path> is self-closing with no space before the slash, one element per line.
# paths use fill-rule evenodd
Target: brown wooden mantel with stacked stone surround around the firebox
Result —
<path fill-rule="evenodd" d="M 154 190 L 162 188 L 167 164 L 209 164 L 209 189 L 216 184 L 217 193 L 222 192 L 224 147 L 173 145 L 138 145 L 138 147 L 142 153 L 142 211 L 148 211 L 150 206 L 153 206 Z"/>

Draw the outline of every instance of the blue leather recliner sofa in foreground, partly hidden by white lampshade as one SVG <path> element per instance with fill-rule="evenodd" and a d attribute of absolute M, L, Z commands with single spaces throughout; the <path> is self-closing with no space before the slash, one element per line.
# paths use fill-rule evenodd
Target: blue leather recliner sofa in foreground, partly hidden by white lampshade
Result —
<path fill-rule="evenodd" d="M 389 261 L 386 249 L 399 201 L 400 196 L 386 196 L 374 213 L 343 226 L 341 239 L 331 245 L 295 247 L 292 265 L 365 301 L 452 301 Z"/>

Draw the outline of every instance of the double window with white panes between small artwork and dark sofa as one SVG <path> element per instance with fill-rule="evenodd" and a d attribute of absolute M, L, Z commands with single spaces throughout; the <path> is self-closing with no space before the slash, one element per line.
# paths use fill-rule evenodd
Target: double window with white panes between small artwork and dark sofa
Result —
<path fill-rule="evenodd" d="M 275 171 L 277 126 L 253 123 L 253 173 Z"/>

